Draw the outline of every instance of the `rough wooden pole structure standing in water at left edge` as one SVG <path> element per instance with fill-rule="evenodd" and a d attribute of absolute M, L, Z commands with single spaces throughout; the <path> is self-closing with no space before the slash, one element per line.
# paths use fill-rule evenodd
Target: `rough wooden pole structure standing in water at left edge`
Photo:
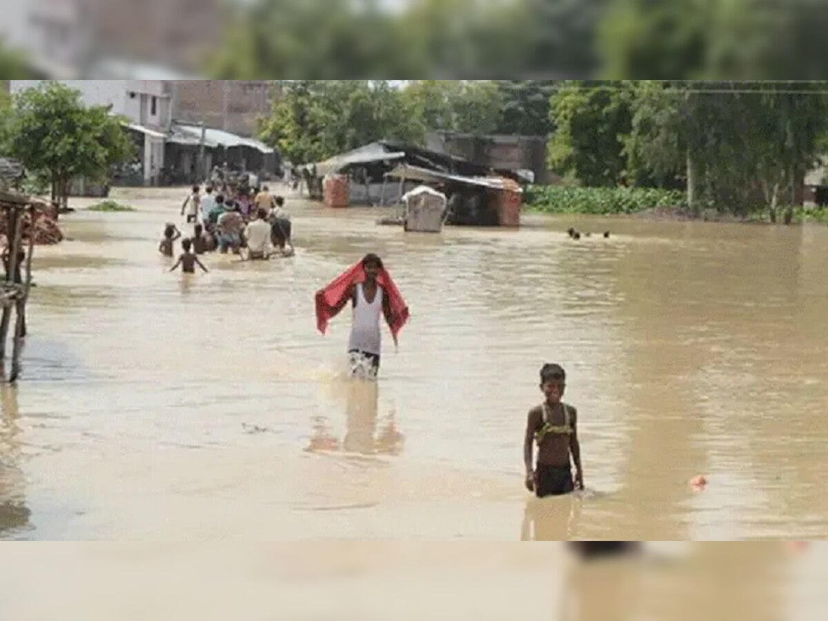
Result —
<path fill-rule="evenodd" d="M 15 311 L 15 324 L 12 345 L 12 373 L 9 382 L 17 382 L 20 377 L 20 356 L 23 348 L 23 339 L 26 336 L 26 302 L 31 289 L 31 258 L 34 254 L 34 213 L 29 200 L 22 195 L 0 192 L 0 209 L 7 218 L 6 248 L 3 250 L 6 277 L 0 287 L 0 306 L 2 306 L 2 320 L 0 320 L 0 370 L 5 379 L 6 343 L 8 330 L 12 324 L 12 310 Z M 26 214 L 30 214 L 27 252 L 25 253 L 25 272 L 20 265 L 20 254 L 24 248 L 24 229 Z M 18 276 L 19 275 L 19 276 Z"/>

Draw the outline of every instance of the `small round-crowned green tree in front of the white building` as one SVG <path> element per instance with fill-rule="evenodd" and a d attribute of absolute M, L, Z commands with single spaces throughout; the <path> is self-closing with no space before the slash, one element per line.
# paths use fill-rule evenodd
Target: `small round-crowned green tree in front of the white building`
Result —
<path fill-rule="evenodd" d="M 84 107 L 80 94 L 50 82 L 14 97 L 12 156 L 51 180 L 52 198 L 66 205 L 75 176 L 99 180 L 132 156 L 132 142 L 110 108 Z"/>

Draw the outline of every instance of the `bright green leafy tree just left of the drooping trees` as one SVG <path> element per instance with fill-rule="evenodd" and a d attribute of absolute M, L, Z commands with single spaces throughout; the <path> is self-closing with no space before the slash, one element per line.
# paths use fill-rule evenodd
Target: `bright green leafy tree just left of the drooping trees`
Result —
<path fill-rule="evenodd" d="M 630 83 L 561 83 L 551 98 L 557 131 L 549 142 L 550 166 L 585 185 L 626 181 L 632 97 Z"/>

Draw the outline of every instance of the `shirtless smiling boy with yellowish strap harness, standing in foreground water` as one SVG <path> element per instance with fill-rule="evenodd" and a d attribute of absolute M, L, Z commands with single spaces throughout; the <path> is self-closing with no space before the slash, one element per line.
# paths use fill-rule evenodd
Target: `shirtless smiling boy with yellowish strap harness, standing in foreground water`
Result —
<path fill-rule="evenodd" d="M 546 398 L 542 405 L 529 412 L 523 440 L 526 488 L 538 498 L 582 490 L 584 471 L 580 463 L 578 412 L 561 402 L 566 391 L 566 371 L 558 364 L 543 365 L 541 390 Z M 537 442 L 537 468 L 533 469 L 534 442 Z M 572 462 L 575 462 L 574 481 Z"/>

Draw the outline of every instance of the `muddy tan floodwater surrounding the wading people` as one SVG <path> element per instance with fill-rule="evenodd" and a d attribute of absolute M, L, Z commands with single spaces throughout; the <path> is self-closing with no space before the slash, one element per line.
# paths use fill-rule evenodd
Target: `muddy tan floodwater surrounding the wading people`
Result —
<path fill-rule="evenodd" d="M 295 257 L 182 277 L 156 247 L 184 195 L 122 192 L 136 212 L 81 210 L 38 248 L 24 375 L 0 392 L 0 539 L 336 541 L 326 563 L 382 574 L 389 541 L 828 538 L 828 229 L 528 216 L 420 235 L 293 200 Z M 352 385 L 349 317 L 317 334 L 313 295 L 368 252 L 412 320 L 378 384 Z M 537 503 L 522 434 L 547 361 L 570 375 L 588 492 Z M 488 557 L 465 550 L 443 566 L 474 582 Z"/>

